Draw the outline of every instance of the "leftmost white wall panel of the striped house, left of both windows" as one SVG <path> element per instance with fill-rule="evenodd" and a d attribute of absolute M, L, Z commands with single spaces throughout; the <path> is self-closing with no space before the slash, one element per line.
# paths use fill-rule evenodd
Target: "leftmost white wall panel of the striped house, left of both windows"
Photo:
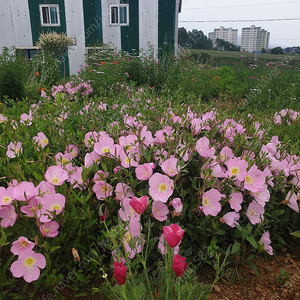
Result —
<path fill-rule="evenodd" d="M 0 28 L 0 48 L 32 46 L 28 1 L 1 0 Z"/>

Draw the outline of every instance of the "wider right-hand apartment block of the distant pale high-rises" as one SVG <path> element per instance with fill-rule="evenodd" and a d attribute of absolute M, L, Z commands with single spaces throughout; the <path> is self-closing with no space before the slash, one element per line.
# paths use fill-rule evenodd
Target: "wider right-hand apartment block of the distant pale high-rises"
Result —
<path fill-rule="evenodd" d="M 241 48 L 248 52 L 260 52 L 269 49 L 270 32 L 261 27 L 245 27 L 242 29 Z"/>

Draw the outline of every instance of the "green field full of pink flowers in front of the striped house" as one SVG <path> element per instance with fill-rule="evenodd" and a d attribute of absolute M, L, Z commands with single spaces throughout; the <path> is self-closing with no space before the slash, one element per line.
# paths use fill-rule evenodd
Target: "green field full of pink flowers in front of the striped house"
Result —
<path fill-rule="evenodd" d="M 297 297 L 298 56 L 39 59 L 0 59 L 1 299 Z"/>

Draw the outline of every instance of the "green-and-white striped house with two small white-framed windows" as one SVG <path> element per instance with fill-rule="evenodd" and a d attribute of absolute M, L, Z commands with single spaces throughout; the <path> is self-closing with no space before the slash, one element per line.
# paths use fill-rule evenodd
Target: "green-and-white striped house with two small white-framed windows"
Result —
<path fill-rule="evenodd" d="M 87 47 L 110 44 L 128 52 L 176 47 L 182 0 L 1 0 L 0 48 L 22 49 L 30 58 L 41 32 L 74 38 L 69 74 L 84 62 Z"/>

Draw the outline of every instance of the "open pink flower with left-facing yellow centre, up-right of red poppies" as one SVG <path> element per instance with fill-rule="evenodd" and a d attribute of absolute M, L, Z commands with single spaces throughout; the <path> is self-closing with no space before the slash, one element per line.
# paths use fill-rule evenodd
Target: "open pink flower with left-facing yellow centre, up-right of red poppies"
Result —
<path fill-rule="evenodd" d="M 202 196 L 202 205 L 201 208 L 203 213 L 207 215 L 211 215 L 215 217 L 221 211 L 221 204 L 219 201 L 221 198 L 225 198 L 224 194 L 221 194 L 216 189 L 210 189 L 209 191 L 205 192 Z"/>

